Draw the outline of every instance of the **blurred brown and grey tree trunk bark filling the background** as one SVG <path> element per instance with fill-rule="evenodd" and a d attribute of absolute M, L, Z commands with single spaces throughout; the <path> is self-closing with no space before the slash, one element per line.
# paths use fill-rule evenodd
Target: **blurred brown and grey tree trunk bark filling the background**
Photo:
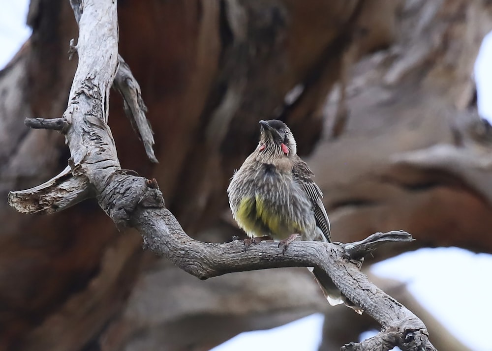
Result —
<path fill-rule="evenodd" d="M 256 144 L 257 121 L 280 117 L 303 154 L 314 149 L 308 163 L 336 240 L 401 228 L 418 239 L 414 247 L 492 252 L 490 135 L 470 78 L 492 28 L 490 6 L 121 1 L 120 53 L 142 88 L 160 162 L 147 161 L 115 97 L 110 123 L 123 168 L 157 179 L 187 233 L 227 241 L 228 179 Z M 29 130 L 24 118 L 61 117 L 77 26 L 61 0 L 32 1 L 28 21 L 31 39 L 0 72 L 4 199 L 57 174 L 68 157 L 62 136 Z M 295 86 L 301 94 L 286 99 Z M 46 350 L 63 335 L 75 350 L 206 350 L 325 308 L 315 286 L 299 289 L 304 270 L 177 278 L 101 212 L 85 202 L 38 217 L 0 204 L 0 349 Z M 198 288 L 203 299 L 183 293 Z M 228 302 L 210 308 L 206 297 L 224 291 Z M 245 295 L 258 303 L 244 304 Z M 195 326 L 203 333 L 185 338 Z"/>

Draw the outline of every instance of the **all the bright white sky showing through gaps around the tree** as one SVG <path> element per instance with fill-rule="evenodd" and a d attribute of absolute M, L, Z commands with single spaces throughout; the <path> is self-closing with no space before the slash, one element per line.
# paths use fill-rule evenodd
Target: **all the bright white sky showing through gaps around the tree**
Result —
<path fill-rule="evenodd" d="M 31 33 L 25 26 L 28 3 L 0 0 L 0 69 Z M 492 34 L 484 39 L 475 80 L 479 111 L 492 122 Z M 458 248 L 420 249 L 371 269 L 406 282 L 410 292 L 472 350 L 492 351 L 492 255 Z M 489 272 L 490 279 L 484 280 L 483 272 Z M 317 351 L 322 323 L 323 316 L 315 314 L 274 329 L 239 334 L 213 351 Z"/>

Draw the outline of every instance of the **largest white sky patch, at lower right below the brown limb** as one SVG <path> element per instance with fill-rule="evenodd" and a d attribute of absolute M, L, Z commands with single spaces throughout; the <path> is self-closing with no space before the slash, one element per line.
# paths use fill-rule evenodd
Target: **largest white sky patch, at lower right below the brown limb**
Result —
<path fill-rule="evenodd" d="M 415 298 L 472 350 L 492 351 L 492 255 L 456 247 L 420 249 L 373 264 L 371 271 L 407 283 Z"/>

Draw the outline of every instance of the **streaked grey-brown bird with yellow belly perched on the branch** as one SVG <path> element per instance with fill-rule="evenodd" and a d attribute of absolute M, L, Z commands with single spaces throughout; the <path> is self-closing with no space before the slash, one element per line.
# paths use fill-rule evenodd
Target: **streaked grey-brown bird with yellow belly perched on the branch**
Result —
<path fill-rule="evenodd" d="M 307 163 L 297 155 L 289 127 L 272 119 L 261 120 L 260 128 L 258 146 L 234 173 L 227 189 L 234 219 L 253 240 L 281 240 L 284 250 L 299 235 L 303 240 L 331 242 L 323 194 Z M 315 268 L 312 272 L 330 304 L 345 303 L 362 313 L 324 271 Z"/>

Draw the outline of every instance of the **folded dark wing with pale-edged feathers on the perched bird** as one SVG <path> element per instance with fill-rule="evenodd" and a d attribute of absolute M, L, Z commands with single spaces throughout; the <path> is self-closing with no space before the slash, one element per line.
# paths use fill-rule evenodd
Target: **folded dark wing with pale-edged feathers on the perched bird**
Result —
<path fill-rule="evenodd" d="M 314 212 L 314 218 L 316 219 L 316 225 L 321 229 L 325 237 L 329 242 L 332 241 L 330 234 L 330 221 L 326 214 L 325 206 L 323 205 L 323 193 L 319 186 L 312 180 L 314 174 L 307 166 L 307 163 L 300 158 L 292 168 L 292 174 L 302 185 L 303 190 L 306 192 L 307 197 L 311 201 L 312 210 Z"/>

